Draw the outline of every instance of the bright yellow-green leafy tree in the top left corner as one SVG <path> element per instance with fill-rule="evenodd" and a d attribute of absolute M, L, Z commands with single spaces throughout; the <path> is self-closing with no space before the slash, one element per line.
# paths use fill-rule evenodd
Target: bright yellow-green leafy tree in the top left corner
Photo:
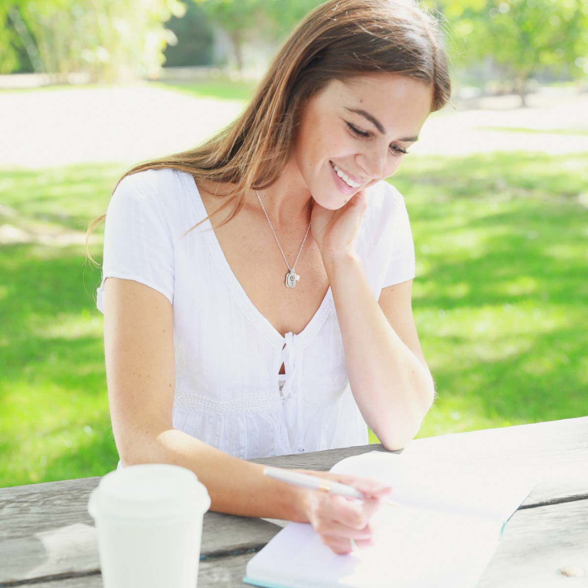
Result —
<path fill-rule="evenodd" d="M 26 43 L 34 45 L 29 56 L 38 56 L 35 69 L 52 82 L 66 81 L 70 72 L 110 82 L 128 75 L 156 76 L 163 49 L 176 41 L 163 23 L 185 9 L 179 0 L 4 0 L 0 23 L 11 18 L 20 24 L 0 26 L 0 72 L 16 69 L 15 45 Z"/>

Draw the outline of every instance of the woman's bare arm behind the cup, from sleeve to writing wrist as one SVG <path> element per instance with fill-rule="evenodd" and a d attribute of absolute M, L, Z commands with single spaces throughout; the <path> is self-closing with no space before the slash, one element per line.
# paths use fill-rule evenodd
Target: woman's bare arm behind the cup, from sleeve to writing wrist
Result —
<path fill-rule="evenodd" d="M 186 467 L 206 486 L 211 510 L 308 522 L 306 489 L 173 428 L 173 309 L 166 296 L 134 280 L 107 278 L 104 304 L 106 379 L 122 466 Z"/>

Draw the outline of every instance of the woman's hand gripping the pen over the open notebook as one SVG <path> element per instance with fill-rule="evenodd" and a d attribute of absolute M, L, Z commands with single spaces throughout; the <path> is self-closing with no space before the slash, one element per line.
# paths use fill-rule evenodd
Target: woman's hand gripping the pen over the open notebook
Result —
<path fill-rule="evenodd" d="M 370 477 L 302 469 L 295 471 L 353 486 L 366 496 L 365 500 L 350 499 L 320 490 L 305 489 L 303 505 L 306 517 L 326 546 L 337 554 L 345 554 L 353 550 L 350 539 L 355 539 L 358 547 L 372 544 L 369 521 L 382 506 L 383 499 L 392 492 L 392 486 L 386 486 Z"/>

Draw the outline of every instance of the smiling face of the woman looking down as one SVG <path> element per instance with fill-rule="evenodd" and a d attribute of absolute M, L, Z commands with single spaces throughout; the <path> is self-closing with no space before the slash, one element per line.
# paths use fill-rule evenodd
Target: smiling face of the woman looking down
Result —
<path fill-rule="evenodd" d="M 416 141 L 432 98 L 425 82 L 387 73 L 333 80 L 313 96 L 297 129 L 293 158 L 315 201 L 335 210 L 391 176 Z"/>

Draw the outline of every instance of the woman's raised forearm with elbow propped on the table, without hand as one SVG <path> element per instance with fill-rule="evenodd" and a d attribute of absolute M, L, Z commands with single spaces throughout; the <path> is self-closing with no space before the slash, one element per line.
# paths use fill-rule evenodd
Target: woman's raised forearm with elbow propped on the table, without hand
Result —
<path fill-rule="evenodd" d="M 429 369 L 396 334 L 355 252 L 323 252 L 335 300 L 349 383 L 370 429 L 388 450 L 418 432 L 435 397 Z"/>

